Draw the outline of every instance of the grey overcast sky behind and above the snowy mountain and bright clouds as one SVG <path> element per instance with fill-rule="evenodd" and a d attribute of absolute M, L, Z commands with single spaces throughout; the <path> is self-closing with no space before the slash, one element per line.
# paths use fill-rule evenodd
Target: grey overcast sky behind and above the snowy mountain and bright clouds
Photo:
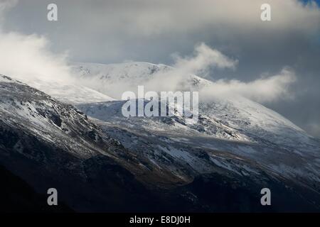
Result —
<path fill-rule="evenodd" d="M 3 1 L 3 0 L 0 0 Z M 49 3 L 58 21 L 46 20 Z M 260 20 L 266 1 L 127 0 L 18 1 L 7 12 L 4 31 L 46 35 L 54 52 L 70 60 L 126 60 L 171 65 L 172 53 L 191 55 L 206 43 L 239 60 L 236 70 L 215 70 L 212 79 L 250 81 L 291 67 L 297 75 L 293 99 L 265 103 L 320 137 L 320 10 L 296 0 L 267 1 L 272 21 Z"/>

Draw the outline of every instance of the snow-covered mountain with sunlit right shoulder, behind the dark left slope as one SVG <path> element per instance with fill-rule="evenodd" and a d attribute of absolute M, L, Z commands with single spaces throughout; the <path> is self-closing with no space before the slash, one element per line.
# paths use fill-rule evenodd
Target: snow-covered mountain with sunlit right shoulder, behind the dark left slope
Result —
<path fill-rule="evenodd" d="M 136 87 L 150 82 L 159 70 L 170 70 L 145 62 L 78 64 L 75 68 L 80 77 L 90 77 L 90 86 L 97 90 L 101 87 L 95 87 L 94 81 L 111 87 L 127 82 L 128 87 Z M 190 77 L 183 89 L 211 83 Z M 170 170 L 186 182 L 216 172 L 231 178 L 250 176 L 255 184 L 279 180 L 285 187 L 292 185 L 299 196 L 313 194 L 310 202 L 315 200 L 319 207 L 319 140 L 265 106 L 242 97 L 206 99 L 199 104 L 199 121 L 191 124 L 178 114 L 125 118 L 121 112 L 124 102 L 80 104 L 78 108 L 132 153 L 147 157 L 146 167 Z"/>

